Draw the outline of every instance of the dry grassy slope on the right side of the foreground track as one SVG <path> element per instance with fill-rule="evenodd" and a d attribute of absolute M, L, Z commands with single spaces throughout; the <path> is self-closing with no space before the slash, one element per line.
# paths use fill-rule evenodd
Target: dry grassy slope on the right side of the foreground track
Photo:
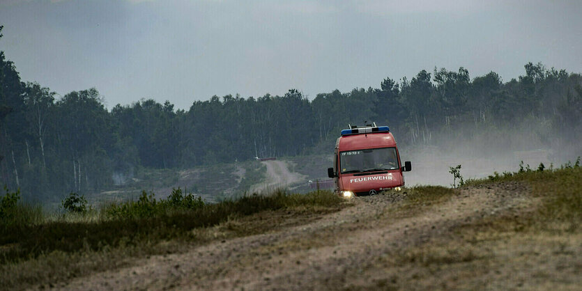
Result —
<path fill-rule="evenodd" d="M 469 184 L 487 188 L 504 182 L 527 185 L 530 191 L 526 195 L 539 203 L 526 212 L 505 212 L 465 223 L 453 229 L 453 236 L 434 237 L 420 246 L 391 253 L 381 264 L 390 279 L 371 282 L 364 289 L 579 288 L 582 168 L 493 175 Z M 448 195 L 441 190 L 441 198 Z M 430 205 L 413 198 L 401 210 L 410 207 L 411 200 L 417 200 L 412 204 L 415 209 Z M 410 215 L 408 211 L 404 214 Z"/>

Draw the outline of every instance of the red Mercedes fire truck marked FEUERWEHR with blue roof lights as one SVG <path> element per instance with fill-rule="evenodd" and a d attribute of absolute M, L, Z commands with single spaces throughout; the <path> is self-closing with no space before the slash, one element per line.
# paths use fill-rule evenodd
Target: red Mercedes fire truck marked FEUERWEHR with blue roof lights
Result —
<path fill-rule="evenodd" d="M 402 172 L 411 171 L 411 162 L 401 165 L 396 141 L 388 126 L 349 125 L 335 143 L 333 168 L 335 191 L 344 197 L 375 195 L 404 186 Z"/>

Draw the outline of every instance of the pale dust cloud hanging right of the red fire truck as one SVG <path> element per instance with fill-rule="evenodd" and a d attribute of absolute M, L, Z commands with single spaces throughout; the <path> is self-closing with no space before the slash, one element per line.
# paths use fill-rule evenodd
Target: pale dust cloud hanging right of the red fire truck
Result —
<path fill-rule="evenodd" d="M 399 143 L 402 162 L 411 161 L 413 166 L 411 172 L 404 173 L 406 185 L 451 186 L 449 167 L 459 164 L 467 180 L 487 178 L 495 171 L 518 171 L 521 161 L 533 170 L 540 163 L 546 168 L 559 168 L 582 155 L 582 146 L 572 135 L 558 135 L 550 128 L 544 123 L 523 123 L 519 127 L 475 131 L 471 125 L 431 134 L 431 146 Z"/>

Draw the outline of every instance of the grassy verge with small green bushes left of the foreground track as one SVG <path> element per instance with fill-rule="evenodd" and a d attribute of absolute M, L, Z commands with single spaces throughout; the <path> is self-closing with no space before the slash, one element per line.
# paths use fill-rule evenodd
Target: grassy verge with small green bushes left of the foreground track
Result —
<path fill-rule="evenodd" d="M 277 190 L 268 196 L 204 203 L 178 188 L 167 199 L 144 191 L 138 200 L 96 209 L 87 207 L 82 196 L 70 194 L 60 213 L 45 214 L 38 206 L 20 202 L 19 191 L 5 191 L 0 284 L 17 288 L 119 267 L 132 258 L 185 251 L 190 244 L 262 233 L 289 217 L 325 214 L 344 205 L 330 191 Z"/>

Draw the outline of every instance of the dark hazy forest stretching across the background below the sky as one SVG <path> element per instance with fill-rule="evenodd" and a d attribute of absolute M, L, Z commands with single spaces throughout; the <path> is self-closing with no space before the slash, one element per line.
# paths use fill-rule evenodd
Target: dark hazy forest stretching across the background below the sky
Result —
<path fill-rule="evenodd" d="M 536 128 L 532 134 L 547 147 L 581 152 L 580 73 L 527 63 L 522 76 L 503 81 L 496 72 L 470 77 L 465 68 L 435 67 L 378 83 L 309 98 L 297 89 L 215 95 L 187 110 L 151 99 L 107 109 L 97 88 L 61 97 L 22 80 L 0 51 L 0 184 L 27 199 L 52 200 L 111 189 L 137 168 L 327 153 L 341 129 L 365 120 L 389 125 L 410 147 L 443 143 L 439 136 L 458 141 Z"/>

